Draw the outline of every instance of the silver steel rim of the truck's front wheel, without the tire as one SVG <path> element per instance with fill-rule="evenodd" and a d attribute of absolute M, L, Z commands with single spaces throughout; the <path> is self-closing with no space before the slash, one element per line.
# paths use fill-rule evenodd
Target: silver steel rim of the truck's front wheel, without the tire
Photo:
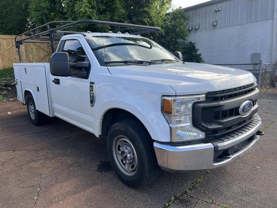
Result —
<path fill-rule="evenodd" d="M 119 135 L 113 139 L 113 158 L 118 168 L 125 175 L 132 176 L 137 171 L 137 153 L 125 136 Z"/>

